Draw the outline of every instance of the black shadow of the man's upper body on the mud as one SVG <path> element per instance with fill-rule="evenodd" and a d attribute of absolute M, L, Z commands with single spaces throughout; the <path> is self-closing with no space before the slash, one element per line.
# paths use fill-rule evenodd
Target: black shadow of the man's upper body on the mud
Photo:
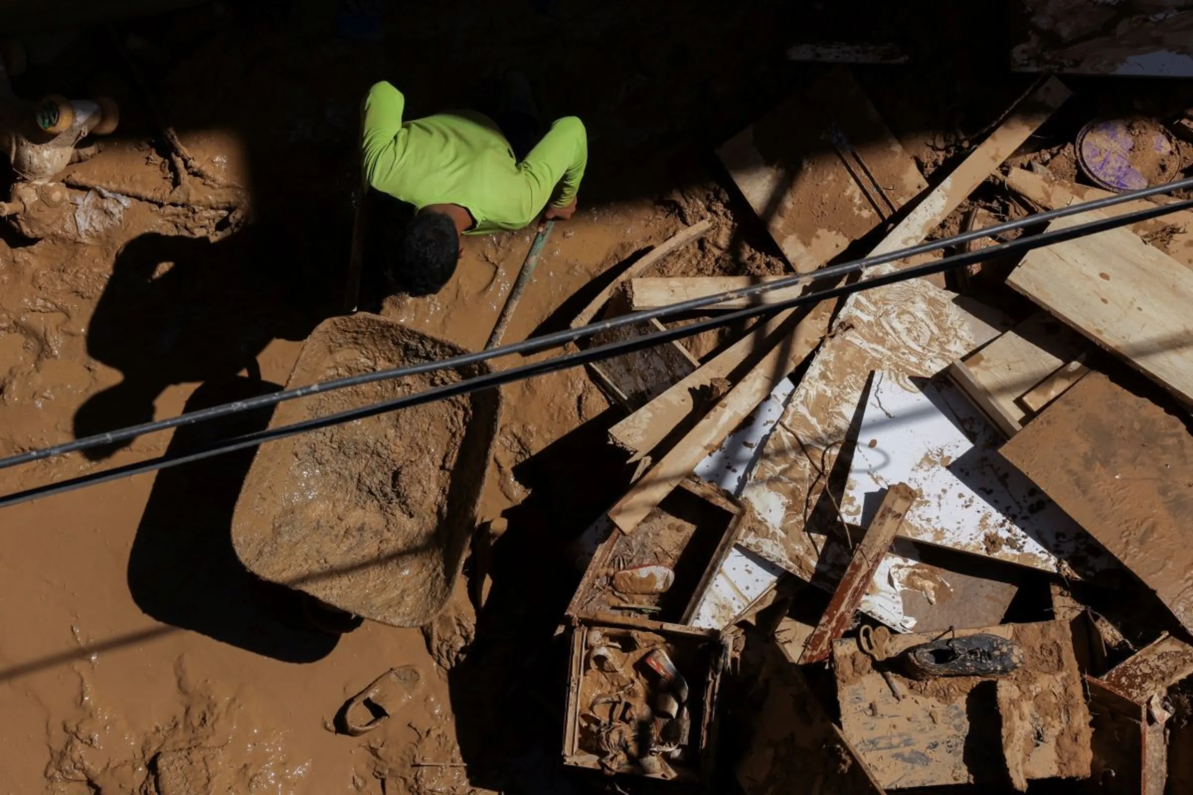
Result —
<path fill-rule="evenodd" d="M 302 302 L 279 294 L 285 273 L 255 256 L 259 237 L 246 230 L 212 243 L 150 232 L 119 250 L 87 329 L 87 354 L 124 378 L 79 408 L 75 437 L 147 422 L 167 386 L 235 374 L 254 366 L 274 336 L 309 330 L 315 318 L 302 318 Z"/>

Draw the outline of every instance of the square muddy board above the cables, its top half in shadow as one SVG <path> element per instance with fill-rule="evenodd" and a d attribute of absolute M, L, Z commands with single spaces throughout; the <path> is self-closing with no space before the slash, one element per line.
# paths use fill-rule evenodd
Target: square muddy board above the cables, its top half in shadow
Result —
<path fill-rule="evenodd" d="M 835 257 L 927 187 L 843 68 L 758 119 L 717 154 L 799 273 Z"/>

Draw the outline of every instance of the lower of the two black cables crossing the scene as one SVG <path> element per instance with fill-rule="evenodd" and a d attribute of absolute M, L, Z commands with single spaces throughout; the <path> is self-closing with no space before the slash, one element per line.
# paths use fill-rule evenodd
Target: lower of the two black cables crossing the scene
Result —
<path fill-rule="evenodd" d="M 515 380 L 532 378 L 534 375 L 543 375 L 546 373 L 555 372 L 557 369 L 576 367 L 579 365 L 585 365 L 592 361 L 600 361 L 601 359 L 608 359 L 610 356 L 617 356 L 625 353 L 632 353 L 635 350 L 642 350 L 644 348 L 649 348 L 665 342 L 670 342 L 673 340 L 680 340 L 682 337 L 698 334 L 706 329 L 716 328 L 718 325 L 723 325 L 727 323 L 733 323 L 735 321 L 740 321 L 743 318 L 758 317 L 764 315 L 774 315 L 786 309 L 793 309 L 796 306 L 802 306 L 804 304 L 815 304 L 829 298 L 836 298 L 839 296 L 848 296 L 855 292 L 863 292 L 865 290 L 872 290 L 874 287 L 882 287 L 884 285 L 904 281 L 907 279 L 914 279 L 916 277 L 929 275 L 933 273 L 941 273 L 944 271 L 951 271 L 953 268 L 984 262 L 987 260 L 1005 256 L 1007 254 L 1018 254 L 1020 251 L 1028 251 L 1036 248 L 1043 248 L 1045 246 L 1051 246 L 1053 243 L 1061 243 L 1067 240 L 1073 240 L 1075 237 L 1083 237 L 1086 235 L 1105 231 L 1107 229 L 1115 229 L 1118 226 L 1138 223 L 1141 221 L 1156 218 L 1160 216 L 1168 215 L 1170 212 L 1175 212 L 1177 210 L 1186 210 L 1191 207 L 1193 207 L 1193 200 L 1180 201 L 1175 204 L 1160 205 L 1154 209 L 1141 210 L 1132 213 L 1117 216 L 1113 218 L 1105 218 L 1084 224 L 1078 224 L 1076 226 L 1069 226 L 1067 229 L 1046 231 L 1040 235 L 1020 237 L 1018 240 L 1007 243 L 1000 243 L 997 246 L 991 246 L 989 248 L 983 248 L 977 251 L 956 254 L 953 256 L 947 256 L 941 260 L 938 260 L 935 262 L 926 262 L 923 265 L 902 268 L 898 271 L 894 271 L 891 273 L 879 274 L 861 281 L 837 285 L 817 292 L 797 296 L 795 298 L 790 298 L 783 302 L 777 302 L 774 304 L 750 306 L 719 317 L 698 321 L 696 323 L 691 323 L 688 325 L 684 325 L 680 328 L 667 329 L 665 331 L 657 331 L 654 334 L 647 334 L 637 337 L 630 337 L 629 340 L 622 340 L 618 342 L 611 342 L 608 344 L 599 346 L 596 348 L 589 348 L 588 350 L 581 350 L 579 353 L 571 353 L 571 354 L 565 354 L 563 356 L 556 356 L 554 359 L 544 359 L 543 361 L 531 362 L 528 365 L 523 365 L 520 367 L 513 367 L 509 369 L 502 369 L 494 373 L 487 373 L 484 375 L 477 375 L 470 379 L 457 381 L 455 384 L 446 384 L 444 386 L 438 386 L 431 390 L 426 390 L 424 392 L 418 392 L 414 395 L 404 395 L 402 397 L 394 398 L 391 400 L 385 400 L 383 403 L 375 403 L 357 409 L 348 409 L 346 411 L 340 411 L 338 414 L 332 414 L 323 417 L 315 417 L 313 420 L 305 420 L 303 422 L 297 422 L 290 426 L 282 426 L 279 428 L 266 428 L 265 430 L 259 430 L 252 434 L 236 436 L 222 442 L 216 442 L 211 447 L 196 451 L 193 453 L 175 453 L 173 455 L 162 455 L 156 459 L 150 459 L 148 461 L 138 461 L 136 464 L 129 464 L 125 466 L 105 470 L 103 472 L 94 472 L 91 474 L 80 476 L 78 478 L 72 478 L 69 480 L 63 480 L 61 483 L 50 483 L 43 486 L 35 486 L 33 489 L 26 489 L 24 491 L 18 491 L 0 497 L 0 508 L 7 508 L 10 505 L 16 505 L 18 503 L 37 499 L 39 497 L 49 497 L 51 495 L 57 495 L 66 491 L 73 491 L 75 489 L 81 489 L 84 486 L 98 485 L 100 483 L 107 483 L 119 478 L 131 477 L 134 474 L 142 474 L 146 472 L 153 472 L 155 470 L 179 466 L 183 464 L 191 464 L 193 461 L 199 461 L 205 458 L 211 458 L 214 455 L 231 453 L 234 451 L 245 449 L 246 447 L 255 447 L 264 442 L 277 441 L 279 439 L 285 439 L 288 436 L 293 436 L 302 433 L 309 433 L 313 430 L 320 430 L 322 428 L 328 428 L 330 426 L 339 424 L 342 422 L 352 422 L 354 420 L 364 420 L 367 417 L 373 417 L 379 414 L 385 414 L 387 411 L 394 411 L 396 409 L 421 405 L 424 403 L 441 400 L 460 395 L 469 395 L 471 392 L 476 392 L 482 389 L 501 386 L 502 384 L 508 384 Z"/>

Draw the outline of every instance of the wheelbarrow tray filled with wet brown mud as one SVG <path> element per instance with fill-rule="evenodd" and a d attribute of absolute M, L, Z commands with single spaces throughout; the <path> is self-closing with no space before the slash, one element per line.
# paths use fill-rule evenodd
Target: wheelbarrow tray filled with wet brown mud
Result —
<path fill-rule="evenodd" d="M 464 353 L 375 315 L 336 317 L 308 337 L 286 386 Z M 482 362 L 316 393 L 280 404 L 270 427 L 487 372 Z M 236 503 L 236 554 L 258 577 L 365 619 L 431 621 L 463 566 L 500 414 L 500 392 L 483 390 L 261 446 Z"/>

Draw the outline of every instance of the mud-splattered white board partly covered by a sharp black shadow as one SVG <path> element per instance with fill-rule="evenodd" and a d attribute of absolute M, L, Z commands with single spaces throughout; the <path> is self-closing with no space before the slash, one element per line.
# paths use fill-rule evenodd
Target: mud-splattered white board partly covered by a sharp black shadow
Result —
<path fill-rule="evenodd" d="M 841 514 L 869 524 L 883 492 L 920 493 L 900 534 L 971 554 L 1077 574 L 1105 559 L 1056 503 L 1000 454 L 1001 435 L 951 383 L 915 384 L 876 372 L 858 431 Z M 1065 573 L 1070 573 L 1065 570 Z"/>

